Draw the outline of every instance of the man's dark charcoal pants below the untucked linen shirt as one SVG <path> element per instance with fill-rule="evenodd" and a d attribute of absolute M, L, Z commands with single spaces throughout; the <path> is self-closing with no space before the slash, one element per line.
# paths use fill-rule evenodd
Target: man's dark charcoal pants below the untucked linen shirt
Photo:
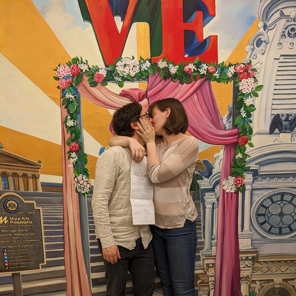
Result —
<path fill-rule="evenodd" d="M 102 244 L 98 239 L 102 254 Z M 121 259 L 112 264 L 104 260 L 107 279 L 106 296 L 124 296 L 128 271 L 132 275 L 134 296 L 151 296 L 154 289 L 155 272 L 151 242 L 144 249 L 141 238 L 136 240 L 136 247 L 128 250 L 118 246 Z"/>

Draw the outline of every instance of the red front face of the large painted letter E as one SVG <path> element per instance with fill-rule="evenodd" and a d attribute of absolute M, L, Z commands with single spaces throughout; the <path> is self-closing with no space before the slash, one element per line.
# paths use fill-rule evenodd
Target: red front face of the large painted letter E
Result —
<path fill-rule="evenodd" d="M 215 0 L 203 1 L 209 10 L 210 16 L 215 16 Z M 197 57 L 185 57 L 184 30 L 191 30 L 197 36 L 197 41 L 203 41 L 202 11 L 197 11 L 192 22 L 183 22 L 182 0 L 161 0 L 162 26 L 163 26 L 163 53 L 159 57 L 152 57 L 156 62 L 164 56 L 173 60 L 175 64 L 180 61 L 194 61 Z M 218 62 L 218 36 L 210 36 L 210 44 L 206 51 L 199 56 L 200 60 Z"/>

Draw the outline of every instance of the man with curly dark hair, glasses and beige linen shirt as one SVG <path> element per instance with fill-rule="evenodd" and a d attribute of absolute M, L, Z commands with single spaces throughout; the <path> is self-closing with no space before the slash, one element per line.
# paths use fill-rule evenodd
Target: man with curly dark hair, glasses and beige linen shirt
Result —
<path fill-rule="evenodd" d="M 133 102 L 116 110 L 113 128 L 117 135 L 135 138 L 145 146 L 136 123 L 149 121 L 141 104 Z M 132 153 L 115 146 L 99 156 L 92 197 L 95 234 L 104 258 L 107 296 L 125 295 L 128 271 L 133 277 L 134 295 L 153 293 L 155 272 L 149 225 L 133 225 L 130 202 Z"/>

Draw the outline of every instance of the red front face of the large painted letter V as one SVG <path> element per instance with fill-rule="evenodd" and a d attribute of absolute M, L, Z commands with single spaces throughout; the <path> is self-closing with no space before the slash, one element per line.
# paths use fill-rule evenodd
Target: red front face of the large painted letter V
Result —
<path fill-rule="evenodd" d="M 108 0 L 85 0 L 106 66 L 112 64 L 112 59 L 116 60 L 123 52 L 137 1 L 129 0 L 126 16 L 119 33 Z"/>

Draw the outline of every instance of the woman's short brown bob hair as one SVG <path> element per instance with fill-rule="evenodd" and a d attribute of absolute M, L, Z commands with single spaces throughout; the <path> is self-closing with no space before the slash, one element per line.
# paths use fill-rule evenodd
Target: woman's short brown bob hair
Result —
<path fill-rule="evenodd" d="M 177 135 L 187 131 L 188 117 L 180 101 L 174 98 L 167 98 L 152 103 L 148 109 L 150 117 L 152 117 L 155 107 L 161 112 L 164 112 L 167 108 L 170 109 L 170 115 L 163 125 L 163 129 L 168 135 Z"/>

